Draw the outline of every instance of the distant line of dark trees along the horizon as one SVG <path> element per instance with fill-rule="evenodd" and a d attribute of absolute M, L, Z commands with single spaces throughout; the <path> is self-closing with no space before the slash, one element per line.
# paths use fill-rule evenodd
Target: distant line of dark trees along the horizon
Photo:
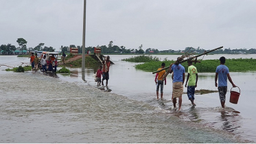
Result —
<path fill-rule="evenodd" d="M 18 43 L 19 47 L 15 47 L 15 45 L 12 45 L 10 43 L 8 43 L 7 45 L 1 45 L 0 46 L 0 51 L 1 54 L 6 54 L 6 55 L 11 55 L 14 54 L 14 51 L 19 50 L 19 51 L 56 51 L 56 49 L 54 47 L 47 47 L 45 46 L 45 43 L 39 43 L 38 45 L 36 45 L 36 47 L 29 47 L 27 48 L 27 40 L 25 40 L 24 38 L 18 38 L 16 40 L 16 42 Z M 82 46 L 75 46 L 75 45 L 69 45 L 69 47 L 77 47 L 78 48 L 78 53 L 82 53 Z M 60 47 L 60 51 L 61 52 L 65 52 L 65 53 L 69 53 L 68 46 L 61 46 Z M 205 49 L 201 49 L 200 47 L 198 48 L 194 48 L 194 47 L 185 47 L 184 50 L 174 50 L 174 49 L 168 49 L 168 50 L 162 50 L 159 51 L 159 49 L 155 49 L 155 48 L 147 48 L 146 51 L 144 51 L 142 49 L 143 45 L 139 45 L 139 47 L 137 49 L 126 49 L 125 46 L 117 46 L 117 45 L 113 45 L 113 41 L 111 40 L 108 45 L 102 45 L 102 46 L 95 46 L 95 47 L 100 47 L 102 53 L 138 53 L 138 54 L 168 54 L 168 53 L 203 53 L 207 50 Z M 91 51 L 91 53 L 94 52 L 94 47 L 85 47 L 86 51 Z M 213 54 L 221 54 L 221 53 L 226 53 L 226 54 L 253 54 L 256 53 L 256 49 L 218 49 L 217 51 L 213 51 L 211 52 Z"/>

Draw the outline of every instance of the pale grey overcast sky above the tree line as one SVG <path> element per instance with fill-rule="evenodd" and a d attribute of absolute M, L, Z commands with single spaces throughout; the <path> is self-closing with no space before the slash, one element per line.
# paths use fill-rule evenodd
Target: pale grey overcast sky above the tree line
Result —
<path fill-rule="evenodd" d="M 0 45 L 82 45 L 84 0 L 0 0 Z M 87 0 L 86 47 L 256 48 L 255 0 Z"/>

